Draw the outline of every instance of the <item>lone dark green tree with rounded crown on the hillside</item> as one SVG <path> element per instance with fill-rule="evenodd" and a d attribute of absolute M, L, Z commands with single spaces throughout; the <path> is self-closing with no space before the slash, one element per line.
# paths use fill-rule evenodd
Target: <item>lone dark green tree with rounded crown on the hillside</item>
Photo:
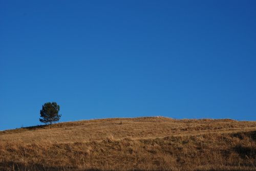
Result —
<path fill-rule="evenodd" d="M 56 102 L 48 102 L 42 106 L 40 110 L 40 122 L 50 123 L 52 128 L 52 122 L 57 122 L 61 115 L 59 113 L 59 105 Z"/>

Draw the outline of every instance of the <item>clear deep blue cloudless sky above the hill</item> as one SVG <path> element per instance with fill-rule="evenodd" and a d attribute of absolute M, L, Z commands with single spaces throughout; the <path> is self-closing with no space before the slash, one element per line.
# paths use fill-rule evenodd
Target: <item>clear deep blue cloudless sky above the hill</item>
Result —
<path fill-rule="evenodd" d="M 256 1 L 0 0 L 0 130 L 166 116 L 256 120 Z"/>

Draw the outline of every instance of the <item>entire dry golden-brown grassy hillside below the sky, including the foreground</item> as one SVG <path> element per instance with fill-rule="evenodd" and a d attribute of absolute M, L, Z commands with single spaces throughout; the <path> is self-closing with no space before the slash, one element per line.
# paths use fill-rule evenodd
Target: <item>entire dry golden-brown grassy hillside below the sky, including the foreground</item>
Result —
<path fill-rule="evenodd" d="M 0 132 L 0 170 L 255 170 L 256 122 L 164 117 Z"/>

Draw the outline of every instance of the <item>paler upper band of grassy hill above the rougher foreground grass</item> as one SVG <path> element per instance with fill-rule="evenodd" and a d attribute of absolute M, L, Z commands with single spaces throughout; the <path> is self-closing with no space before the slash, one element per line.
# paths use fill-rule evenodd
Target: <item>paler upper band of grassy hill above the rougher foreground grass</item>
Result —
<path fill-rule="evenodd" d="M 167 117 L 106 118 L 60 122 L 49 125 L 24 127 L 0 133 L 0 141 L 15 140 L 35 142 L 73 142 L 103 140 L 108 136 L 115 139 L 148 139 L 166 136 L 199 135 L 204 133 L 234 133 L 256 130 L 253 121 L 230 119 L 172 119 Z M 61 136 L 59 136 L 61 135 Z"/>

